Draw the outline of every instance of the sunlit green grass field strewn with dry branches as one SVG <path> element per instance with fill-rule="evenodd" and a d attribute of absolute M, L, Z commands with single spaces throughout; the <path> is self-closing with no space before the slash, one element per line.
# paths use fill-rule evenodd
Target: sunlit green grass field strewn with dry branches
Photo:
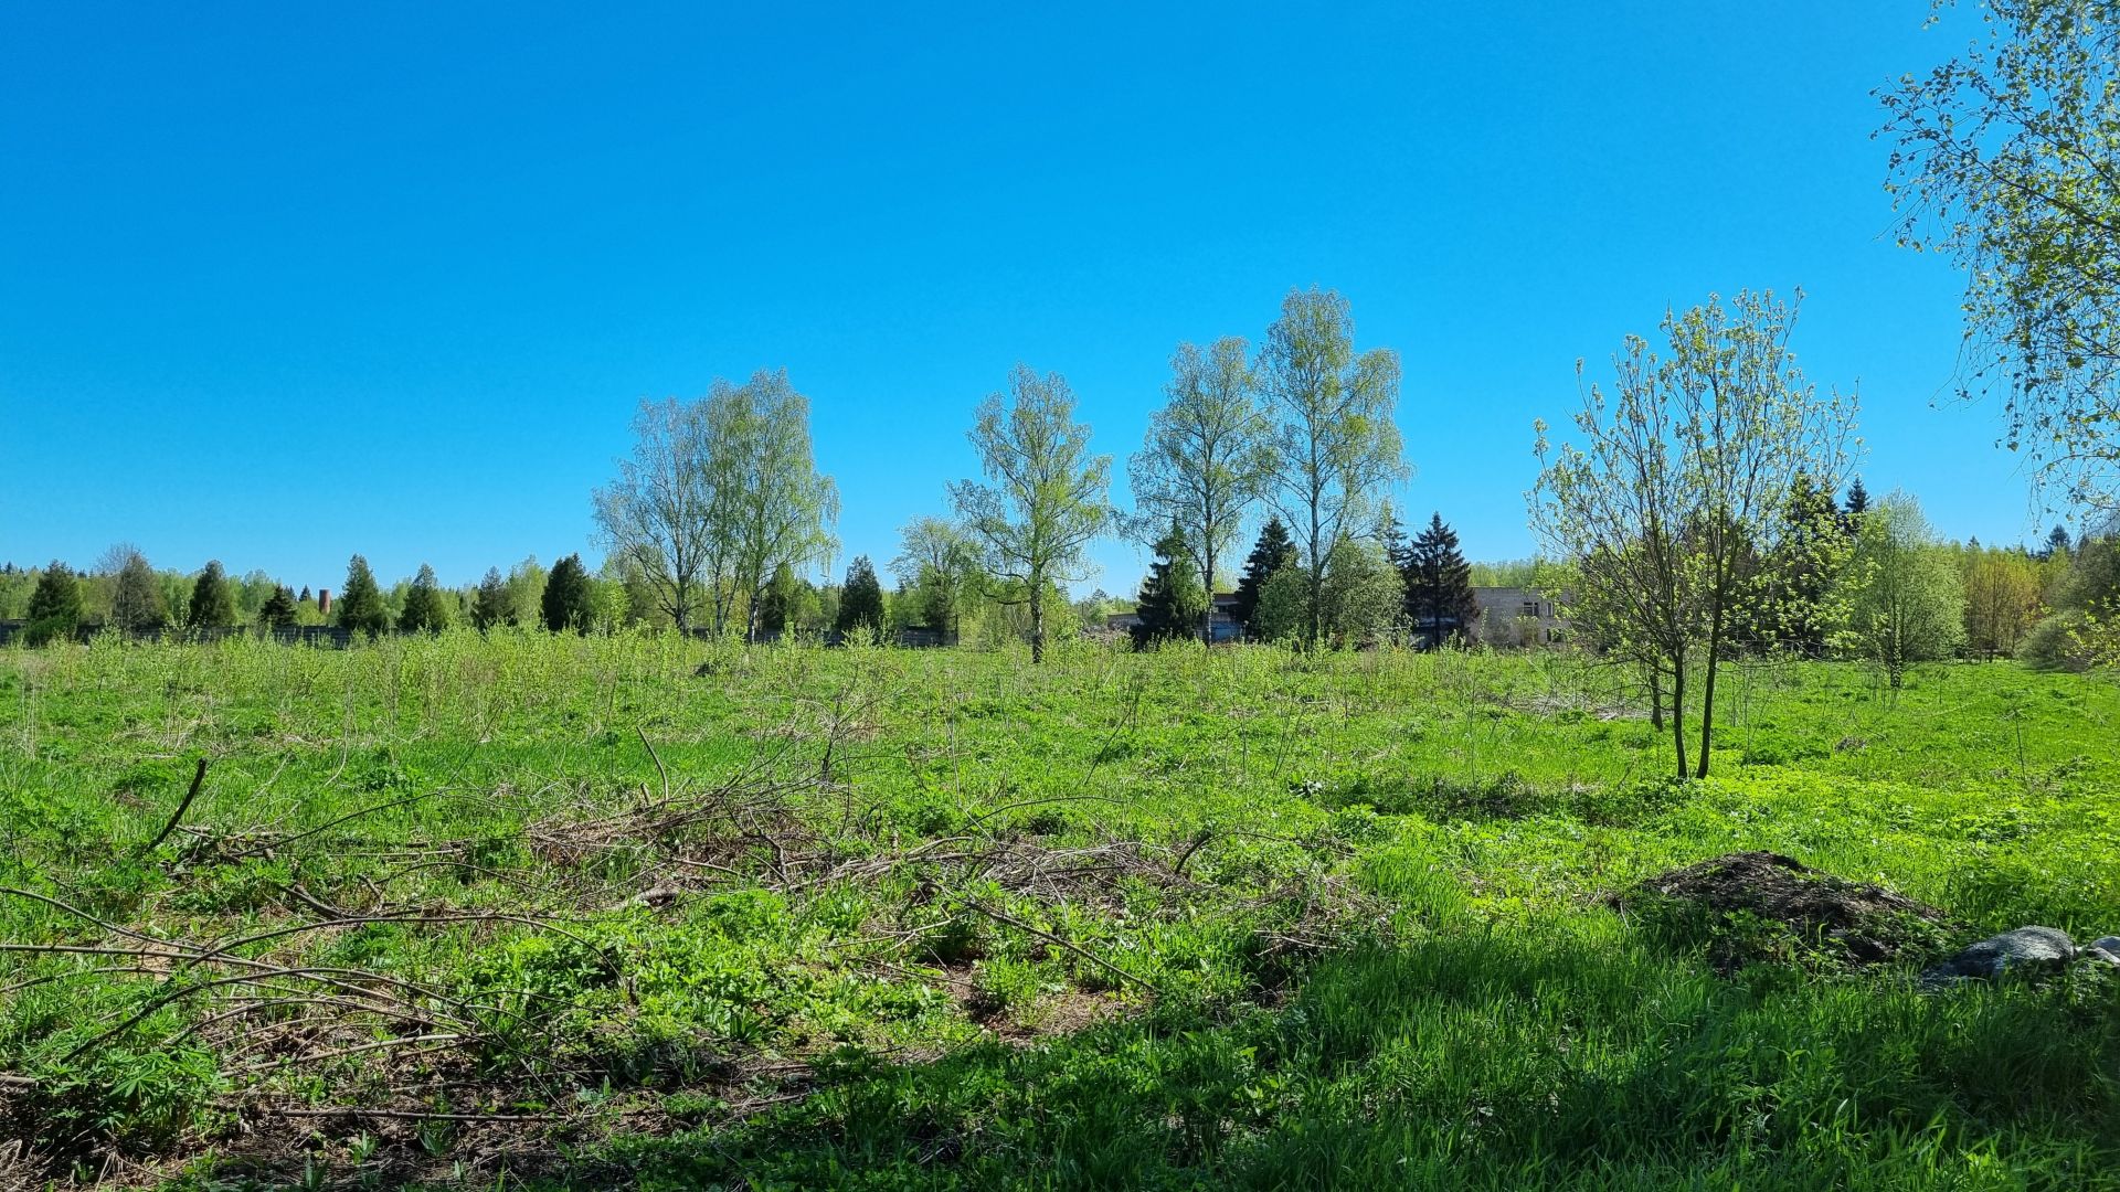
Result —
<path fill-rule="evenodd" d="M 2120 687 L 447 634 L 0 651 L 0 1186 L 2120 1188 Z M 197 759 L 197 797 L 176 817 Z M 19 1141 L 8 1147 L 4 1139 Z"/>

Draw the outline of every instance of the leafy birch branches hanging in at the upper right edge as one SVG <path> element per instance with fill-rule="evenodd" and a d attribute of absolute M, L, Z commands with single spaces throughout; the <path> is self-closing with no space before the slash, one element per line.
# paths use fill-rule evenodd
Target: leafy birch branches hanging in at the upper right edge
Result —
<path fill-rule="evenodd" d="M 2120 479 L 2120 4 L 1989 0 L 1986 45 L 1880 93 L 1900 244 L 1965 269 L 1965 392 L 2071 501 Z"/>

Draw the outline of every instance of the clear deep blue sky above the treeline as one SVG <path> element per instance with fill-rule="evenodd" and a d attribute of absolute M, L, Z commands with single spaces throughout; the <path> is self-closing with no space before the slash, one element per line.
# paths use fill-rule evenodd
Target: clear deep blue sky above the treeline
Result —
<path fill-rule="evenodd" d="M 1808 291 L 1874 492 L 2052 520 L 1933 407 L 1961 280 L 1887 235 L 1870 91 L 1965 40 L 1925 0 L 708 8 L 0 4 L 0 558 L 594 562 L 634 403 L 787 367 L 882 562 L 1015 361 L 1124 477 L 1172 346 L 1310 284 L 1473 558 L 1531 554 L 1575 358 L 1743 286 Z"/>

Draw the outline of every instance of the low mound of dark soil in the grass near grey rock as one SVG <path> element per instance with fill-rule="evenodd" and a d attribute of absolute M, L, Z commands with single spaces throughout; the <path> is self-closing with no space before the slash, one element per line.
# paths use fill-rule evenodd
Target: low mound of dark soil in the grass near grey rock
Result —
<path fill-rule="evenodd" d="M 1942 948 L 1948 921 L 1933 906 L 1781 853 L 1730 853 L 1671 870 L 1618 901 L 1681 942 L 1704 944 L 1724 971 L 1757 961 L 1919 961 Z"/>

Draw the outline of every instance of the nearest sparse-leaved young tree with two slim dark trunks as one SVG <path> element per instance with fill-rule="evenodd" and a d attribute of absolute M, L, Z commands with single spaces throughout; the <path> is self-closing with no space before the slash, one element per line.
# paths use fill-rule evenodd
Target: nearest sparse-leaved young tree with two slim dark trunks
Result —
<path fill-rule="evenodd" d="M 1802 295 L 1798 295 L 1798 301 Z M 1825 562 L 1830 539 L 1789 518 L 1791 496 L 1838 477 L 1855 403 L 1819 397 L 1789 350 L 1794 308 L 1770 293 L 1666 312 L 1666 354 L 1628 335 L 1607 397 L 1592 384 L 1558 450 L 1537 422 L 1531 524 L 1569 568 L 1569 617 L 1603 651 L 1671 681 L 1677 772 L 1715 751 L 1721 664 L 1764 628 L 1825 619 L 1813 583 L 1777 583 L 1787 564 Z M 1777 566 L 1781 564 L 1781 566 Z M 1688 679 L 1700 674 L 1698 747 L 1685 740 Z M 1662 696 L 1654 696 L 1662 715 Z"/>

